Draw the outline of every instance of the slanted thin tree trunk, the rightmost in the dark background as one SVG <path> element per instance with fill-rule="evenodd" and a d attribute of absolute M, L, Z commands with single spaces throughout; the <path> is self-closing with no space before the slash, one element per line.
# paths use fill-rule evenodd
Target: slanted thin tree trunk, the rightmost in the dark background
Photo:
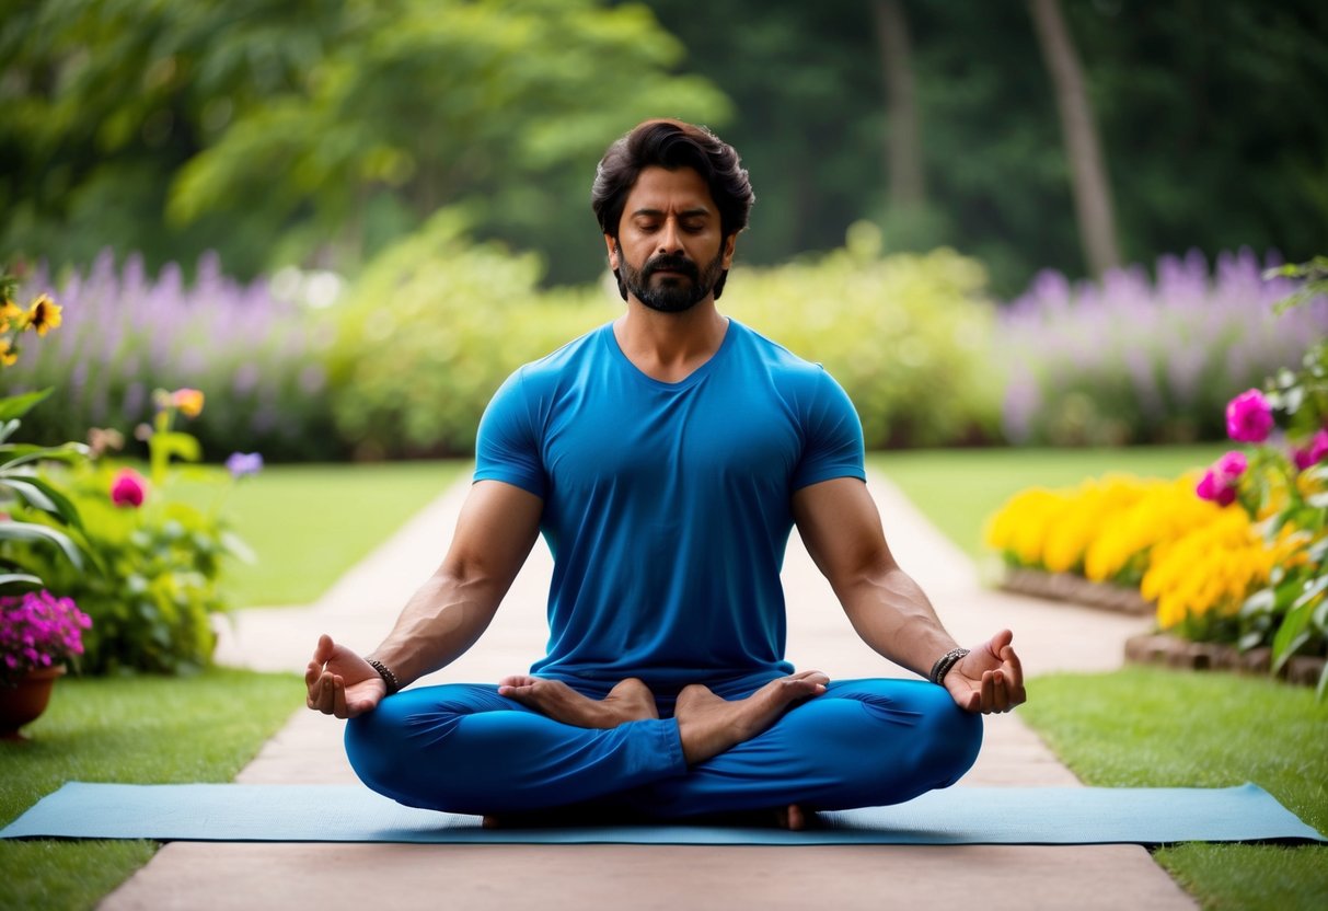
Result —
<path fill-rule="evenodd" d="M 1084 90 L 1084 70 L 1061 16 L 1060 0 L 1028 0 L 1028 7 L 1056 89 L 1084 258 L 1093 275 L 1101 275 L 1121 264 L 1121 254 L 1116 243 L 1116 216 L 1102 165 L 1102 146 Z"/>

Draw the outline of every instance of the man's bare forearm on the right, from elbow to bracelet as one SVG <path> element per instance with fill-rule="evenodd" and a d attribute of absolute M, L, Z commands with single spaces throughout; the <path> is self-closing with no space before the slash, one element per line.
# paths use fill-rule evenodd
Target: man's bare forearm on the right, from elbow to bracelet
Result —
<path fill-rule="evenodd" d="M 927 676 L 955 648 L 926 592 L 898 566 L 865 574 L 837 594 L 858 636 L 900 667 Z"/>

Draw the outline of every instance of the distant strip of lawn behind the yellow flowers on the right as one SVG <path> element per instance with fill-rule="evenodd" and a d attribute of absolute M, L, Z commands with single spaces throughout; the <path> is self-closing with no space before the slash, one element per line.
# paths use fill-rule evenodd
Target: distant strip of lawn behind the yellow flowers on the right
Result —
<path fill-rule="evenodd" d="M 1175 478 L 1214 461 L 1228 446 L 1127 449 L 948 449 L 872 453 L 870 467 L 890 478 L 942 533 L 975 560 L 987 518 L 1024 487 L 1065 487 L 1114 471 Z M 883 517 L 890 534 L 890 517 Z"/>

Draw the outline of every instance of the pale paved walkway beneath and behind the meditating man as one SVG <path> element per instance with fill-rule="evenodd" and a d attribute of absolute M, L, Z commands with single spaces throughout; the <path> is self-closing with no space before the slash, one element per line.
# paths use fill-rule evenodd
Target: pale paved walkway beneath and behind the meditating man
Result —
<path fill-rule="evenodd" d="M 303 672 L 320 632 L 369 651 L 441 558 L 467 483 L 458 483 L 353 567 L 319 603 L 242 612 L 218 659 Z M 1106 671 L 1141 618 L 1086 611 L 983 590 L 971 560 L 883 478 L 871 478 L 899 562 L 923 584 L 959 641 L 1000 627 L 1029 675 Z M 437 680 L 494 680 L 543 653 L 542 606 L 551 560 L 543 544 L 513 586 L 481 643 Z M 866 648 L 797 535 L 785 566 L 789 659 L 831 677 L 888 671 Z M 1035 691 L 1036 697 L 1036 691 Z M 303 709 L 239 774 L 244 782 L 352 782 L 343 722 Z M 1017 713 L 988 718 L 983 753 L 957 785 L 1077 785 Z M 622 908 L 1193 908 L 1194 902 L 1138 846 L 806 846 L 641 845 L 286 845 L 190 843 L 162 847 L 102 908 L 540 907 Z"/>

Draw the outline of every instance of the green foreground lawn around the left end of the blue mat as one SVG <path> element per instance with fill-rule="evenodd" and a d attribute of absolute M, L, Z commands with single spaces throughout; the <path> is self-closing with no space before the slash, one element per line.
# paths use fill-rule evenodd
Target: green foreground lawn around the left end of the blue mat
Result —
<path fill-rule="evenodd" d="M 24 729 L 31 740 L 0 742 L 0 825 L 66 781 L 230 781 L 301 697 L 291 675 L 64 677 Z M 146 841 L 0 842 L 0 908 L 90 908 L 155 850 Z"/>

